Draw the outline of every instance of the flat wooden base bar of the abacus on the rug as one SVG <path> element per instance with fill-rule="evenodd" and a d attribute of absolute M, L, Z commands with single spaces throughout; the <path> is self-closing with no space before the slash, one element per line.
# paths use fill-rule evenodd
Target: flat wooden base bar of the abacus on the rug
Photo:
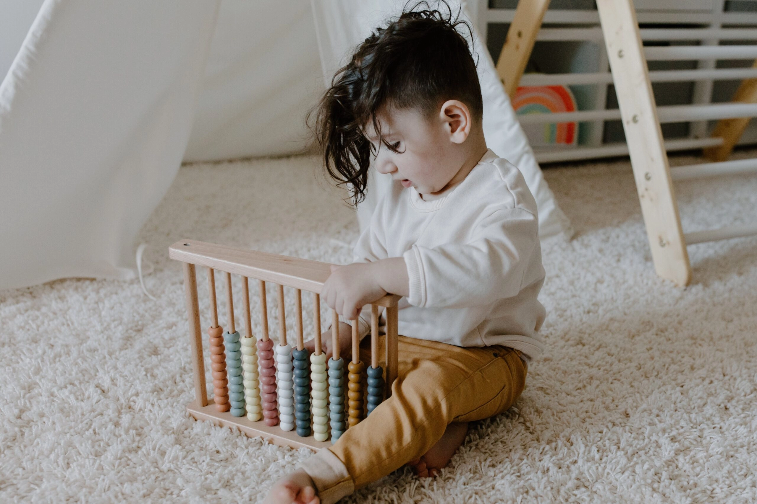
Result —
<path fill-rule="evenodd" d="M 244 432 L 250 438 L 263 438 L 270 444 L 276 444 L 279 447 L 301 448 L 307 447 L 310 450 L 319 451 L 322 448 L 332 446 L 331 440 L 316 441 L 312 435 L 307 438 L 298 436 L 296 430 L 282 431 L 279 425 L 269 427 L 263 423 L 263 420 L 251 422 L 246 416 L 232 416 L 228 411 L 221 413 L 216 410 L 213 403 L 207 406 L 198 406 L 194 401 L 187 404 L 187 412 L 197 420 L 210 420 L 214 425 L 221 427 L 236 427 Z"/>

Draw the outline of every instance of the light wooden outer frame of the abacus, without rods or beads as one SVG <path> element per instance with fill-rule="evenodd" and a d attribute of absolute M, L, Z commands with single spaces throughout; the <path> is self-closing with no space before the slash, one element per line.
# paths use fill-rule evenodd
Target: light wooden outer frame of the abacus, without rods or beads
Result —
<path fill-rule="evenodd" d="M 215 410 L 212 404 L 208 404 L 202 350 L 203 331 L 200 323 L 195 271 L 195 266 L 210 267 L 213 270 L 320 294 L 323 283 L 331 274 L 331 264 L 197 240 L 181 240 L 174 243 L 169 247 L 168 255 L 184 263 L 184 289 L 195 382 L 195 400 L 187 404 L 188 413 L 195 419 L 210 420 L 216 425 L 226 427 L 233 426 L 250 437 L 260 436 L 269 443 L 283 447 L 308 447 L 311 450 L 320 450 L 331 446 L 331 441 L 316 441 L 312 436 L 301 438 L 296 431 L 282 431 L 278 425 L 269 427 L 262 421 L 251 422 L 245 416 L 235 417 L 229 412 L 222 413 Z M 386 308 L 385 394 L 387 397 L 391 394 L 391 384 L 397 378 L 397 301 L 400 297 L 388 294 L 372 303 L 372 305 Z"/>

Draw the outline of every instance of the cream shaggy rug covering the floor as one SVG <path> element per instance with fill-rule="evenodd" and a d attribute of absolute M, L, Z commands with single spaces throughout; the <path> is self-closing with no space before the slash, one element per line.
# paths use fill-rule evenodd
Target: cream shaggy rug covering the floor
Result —
<path fill-rule="evenodd" d="M 255 502 L 308 455 L 187 416 L 182 273 L 167 247 L 348 261 L 354 214 L 314 163 L 181 169 L 142 231 L 157 301 L 136 282 L 0 292 L 0 502 Z M 757 502 L 757 239 L 690 246 L 693 283 L 678 289 L 653 272 L 628 162 L 546 175 L 577 235 L 545 247 L 547 351 L 525 393 L 439 478 L 403 469 L 347 502 Z M 685 230 L 757 218 L 755 177 L 676 190 Z"/>

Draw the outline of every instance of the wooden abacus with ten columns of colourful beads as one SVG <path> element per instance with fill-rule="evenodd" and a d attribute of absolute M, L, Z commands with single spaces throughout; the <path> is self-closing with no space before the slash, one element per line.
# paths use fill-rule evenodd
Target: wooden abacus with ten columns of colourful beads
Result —
<path fill-rule="evenodd" d="M 360 361 L 357 320 L 352 321 L 352 360 L 347 364 L 345 411 L 344 359 L 338 351 L 339 319 L 335 310 L 332 310 L 332 348 L 335 351 L 328 363 L 321 343 L 319 295 L 331 274 L 330 264 L 195 240 L 174 243 L 169 248 L 169 256 L 184 263 L 195 377 L 195 400 L 187 405 L 187 411 L 195 419 L 233 425 L 248 436 L 261 436 L 273 444 L 319 450 L 334 443 L 347 428 L 357 425 L 364 413 L 369 414 L 391 393 L 391 384 L 397 377 L 397 301 L 400 296 L 388 294 L 372 303 L 371 363 L 367 369 Z M 195 266 L 207 267 L 210 294 L 210 328 L 207 333 L 210 337 L 214 404 L 208 404 L 205 388 Z M 226 274 L 226 332 L 218 323 L 214 271 Z M 245 304 L 244 336 L 240 336 L 235 327 L 232 274 L 241 276 Z M 260 283 L 260 339 L 252 334 L 248 278 Z M 269 339 L 266 282 L 278 286 L 279 345 Z M 297 345 L 294 349 L 287 342 L 285 286 L 296 289 Z M 303 290 L 313 293 L 315 351 L 310 355 L 304 348 Z M 378 362 L 379 306 L 386 309 L 383 367 Z M 367 378 L 366 389 L 363 388 L 364 378 Z"/>

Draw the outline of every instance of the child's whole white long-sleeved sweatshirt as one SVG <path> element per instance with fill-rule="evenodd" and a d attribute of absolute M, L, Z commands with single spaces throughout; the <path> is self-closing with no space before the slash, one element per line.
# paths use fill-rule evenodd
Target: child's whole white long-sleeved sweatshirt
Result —
<path fill-rule="evenodd" d="M 534 196 L 523 176 L 491 149 L 450 193 L 425 201 L 394 181 L 354 249 L 354 262 L 403 257 L 410 295 L 399 301 L 398 332 L 461 347 L 544 350 L 546 311 Z M 370 306 L 360 332 L 370 328 Z"/>

